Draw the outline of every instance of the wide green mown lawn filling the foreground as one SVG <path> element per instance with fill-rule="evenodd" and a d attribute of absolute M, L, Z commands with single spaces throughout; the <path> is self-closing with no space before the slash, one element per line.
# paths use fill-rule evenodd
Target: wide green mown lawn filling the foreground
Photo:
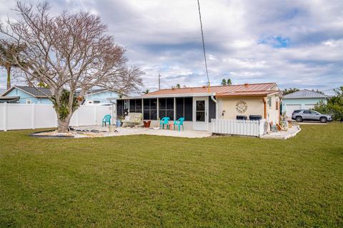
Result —
<path fill-rule="evenodd" d="M 0 227 L 343 227 L 343 124 L 289 140 L 0 133 Z"/>

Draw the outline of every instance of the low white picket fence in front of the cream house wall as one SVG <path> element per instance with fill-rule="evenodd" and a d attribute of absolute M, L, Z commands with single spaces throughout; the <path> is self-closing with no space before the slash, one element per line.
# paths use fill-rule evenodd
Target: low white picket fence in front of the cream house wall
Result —
<path fill-rule="evenodd" d="M 225 120 L 212 119 L 212 133 L 228 135 L 252 135 L 264 134 L 266 120 Z"/>

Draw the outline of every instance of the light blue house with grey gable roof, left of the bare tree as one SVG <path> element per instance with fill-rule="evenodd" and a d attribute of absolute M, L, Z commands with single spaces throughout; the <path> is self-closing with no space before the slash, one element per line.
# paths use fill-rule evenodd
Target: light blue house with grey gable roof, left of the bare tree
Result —
<path fill-rule="evenodd" d="M 48 88 L 13 86 L 1 95 L 0 103 L 51 104 L 51 100 L 46 96 L 50 94 Z"/>

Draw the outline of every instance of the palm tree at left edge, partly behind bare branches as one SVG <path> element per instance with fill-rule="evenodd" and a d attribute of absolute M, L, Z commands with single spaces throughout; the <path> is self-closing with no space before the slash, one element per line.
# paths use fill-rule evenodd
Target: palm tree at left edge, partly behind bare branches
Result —
<path fill-rule="evenodd" d="M 0 42 L 0 66 L 6 68 L 8 90 L 11 88 L 11 68 L 18 67 L 14 56 L 23 50 L 24 46 L 16 45 L 16 43 L 8 43 L 4 40 Z"/>

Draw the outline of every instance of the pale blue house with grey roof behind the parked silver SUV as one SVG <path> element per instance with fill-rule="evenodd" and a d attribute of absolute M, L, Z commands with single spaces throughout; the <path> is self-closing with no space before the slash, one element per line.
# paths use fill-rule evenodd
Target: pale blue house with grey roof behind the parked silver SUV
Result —
<path fill-rule="evenodd" d="M 319 101 L 327 102 L 329 96 L 322 93 L 317 93 L 312 90 L 299 90 L 294 93 L 284 95 L 282 100 L 282 113 L 286 113 L 287 117 L 292 117 L 292 113 L 297 109 L 311 109 Z"/>

